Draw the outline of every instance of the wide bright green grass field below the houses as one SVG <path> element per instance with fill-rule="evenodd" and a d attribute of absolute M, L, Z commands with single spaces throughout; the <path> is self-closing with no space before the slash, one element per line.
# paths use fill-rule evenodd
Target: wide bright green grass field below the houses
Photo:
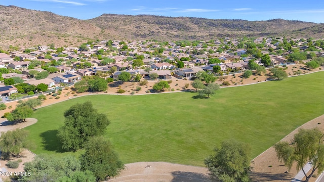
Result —
<path fill-rule="evenodd" d="M 66 155 L 56 132 L 63 112 L 91 101 L 111 121 L 106 137 L 124 163 L 166 161 L 203 166 L 226 139 L 252 146 L 256 157 L 303 123 L 324 114 L 324 72 L 282 81 L 222 88 L 210 99 L 195 93 L 143 96 L 93 95 L 37 109 L 26 130 L 34 153 Z M 324 123 L 323 123 L 324 124 Z M 79 155 L 83 151 L 79 151 Z"/>

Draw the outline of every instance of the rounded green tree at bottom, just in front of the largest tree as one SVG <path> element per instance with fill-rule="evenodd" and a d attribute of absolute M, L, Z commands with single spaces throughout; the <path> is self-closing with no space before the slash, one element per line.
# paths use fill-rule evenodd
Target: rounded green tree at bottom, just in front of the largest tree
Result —
<path fill-rule="evenodd" d="M 92 171 L 98 181 L 114 177 L 124 169 L 110 142 L 103 136 L 90 138 L 85 144 L 85 150 L 80 158 L 82 169 Z"/>

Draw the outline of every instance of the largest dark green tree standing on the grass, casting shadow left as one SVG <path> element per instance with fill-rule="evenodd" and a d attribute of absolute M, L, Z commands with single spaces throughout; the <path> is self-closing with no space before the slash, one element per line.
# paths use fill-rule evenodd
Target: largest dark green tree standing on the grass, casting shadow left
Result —
<path fill-rule="evenodd" d="M 75 104 L 64 112 L 64 125 L 59 128 L 58 138 L 62 149 L 82 149 L 91 136 L 103 134 L 109 125 L 105 114 L 98 113 L 91 102 Z"/>

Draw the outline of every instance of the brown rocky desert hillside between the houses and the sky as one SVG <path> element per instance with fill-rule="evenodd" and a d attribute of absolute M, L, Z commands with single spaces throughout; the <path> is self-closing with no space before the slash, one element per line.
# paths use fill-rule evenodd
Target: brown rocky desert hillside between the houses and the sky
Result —
<path fill-rule="evenodd" d="M 268 21 L 213 20 L 190 17 L 103 14 L 79 20 L 51 12 L 0 6 L 0 47 L 32 47 L 55 43 L 78 46 L 89 39 L 201 39 L 224 36 L 324 36 L 323 24 L 274 19 Z"/>

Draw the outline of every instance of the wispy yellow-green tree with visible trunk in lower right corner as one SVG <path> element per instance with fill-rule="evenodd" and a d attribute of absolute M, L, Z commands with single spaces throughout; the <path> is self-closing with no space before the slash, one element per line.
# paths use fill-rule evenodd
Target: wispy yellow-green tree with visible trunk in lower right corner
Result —
<path fill-rule="evenodd" d="M 274 145 L 278 160 L 284 162 L 290 170 L 293 163 L 297 163 L 296 169 L 302 170 L 307 182 L 317 169 L 317 173 L 324 170 L 324 134 L 317 128 L 300 129 L 295 134 L 293 141 L 278 142 Z M 304 166 L 311 162 L 310 172 L 304 170 Z"/>

